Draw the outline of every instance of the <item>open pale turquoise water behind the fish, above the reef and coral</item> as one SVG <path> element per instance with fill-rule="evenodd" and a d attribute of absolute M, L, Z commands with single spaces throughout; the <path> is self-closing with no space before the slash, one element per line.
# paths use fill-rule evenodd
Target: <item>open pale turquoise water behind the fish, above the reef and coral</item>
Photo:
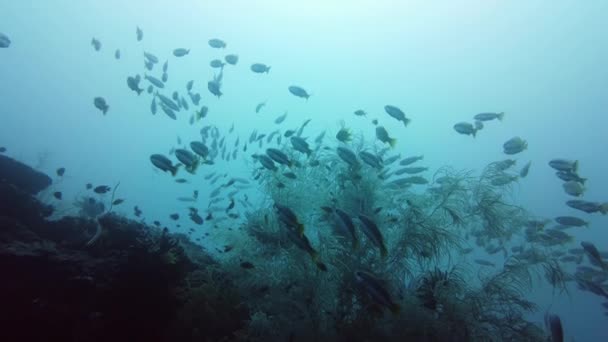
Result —
<path fill-rule="evenodd" d="M 65 167 L 54 186 L 68 199 L 82 194 L 85 183 L 120 182 L 128 202 L 115 211 L 132 216 L 137 204 L 148 221 L 171 224 L 168 215 L 184 208 L 176 197 L 196 188 L 206 198 L 211 187 L 200 177 L 174 183 L 153 168 L 151 154 L 168 154 L 177 136 L 198 139 L 204 124 L 222 132 L 234 124 L 243 141 L 253 129 L 274 130 L 274 119 L 287 110 L 282 128 L 312 119 L 306 129 L 312 138 L 324 129 L 333 137 L 343 120 L 373 139 L 370 119 L 378 118 L 398 139 L 396 152 L 424 154 L 432 169 L 479 172 L 504 159 L 504 141 L 521 136 L 529 148 L 517 156 L 518 166 L 531 160 L 532 167 L 515 187 L 517 203 L 539 217 L 578 214 L 564 205 L 569 198 L 547 165 L 553 158 L 579 160 L 589 179 L 585 199 L 608 200 L 606 1 L 3 0 L 0 8 L 0 32 L 12 41 L 0 49 L 0 146 L 49 174 Z M 136 26 L 144 31 L 141 42 Z M 90 45 L 92 37 L 101 51 Z M 207 45 L 215 37 L 227 42 L 225 50 Z M 190 54 L 174 57 L 178 47 Z M 151 115 L 151 96 L 126 85 L 127 76 L 143 76 L 143 51 L 161 60 L 150 72 L 156 77 L 169 61 L 168 89 L 186 95 L 186 82 L 195 80 L 210 108 L 207 118 L 190 126 L 184 113 L 177 121 L 160 109 Z M 209 61 L 226 53 L 240 61 L 225 67 L 218 99 L 206 89 L 216 72 Z M 270 73 L 252 73 L 255 62 L 270 65 Z M 312 93 L 310 99 L 292 96 L 292 84 Z M 93 106 L 96 96 L 107 100 L 106 116 Z M 262 101 L 267 106 L 256 114 Z M 404 109 L 412 119 L 407 129 L 384 113 L 386 104 Z M 360 108 L 367 118 L 352 114 Z M 485 111 L 504 111 L 505 120 L 488 123 L 475 139 L 453 130 Z M 245 155 L 199 173 L 248 177 L 252 163 L 241 160 Z M 59 205 L 68 213 L 70 207 L 69 200 Z M 576 237 L 571 247 L 587 240 L 608 249 L 608 219 L 585 219 L 590 228 L 569 231 Z M 566 296 L 537 288 L 531 298 L 541 310 L 531 319 L 542 322 L 550 308 L 568 338 L 608 339 L 600 297 L 569 289 Z"/>

